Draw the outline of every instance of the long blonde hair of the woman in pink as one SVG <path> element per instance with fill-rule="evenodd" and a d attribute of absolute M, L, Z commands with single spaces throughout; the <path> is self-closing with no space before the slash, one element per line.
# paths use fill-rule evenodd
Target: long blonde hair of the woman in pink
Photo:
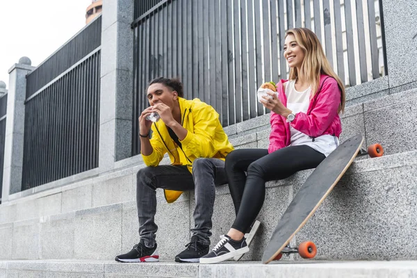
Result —
<path fill-rule="evenodd" d="M 293 28 L 286 31 L 285 38 L 288 35 L 293 35 L 297 44 L 300 45 L 304 52 L 304 60 L 302 61 L 301 70 L 297 72 L 296 67 L 291 67 L 290 80 L 297 78 L 311 84 L 311 97 L 313 97 L 320 85 L 320 74 L 326 74 L 336 79 L 341 89 L 341 104 L 338 108 L 338 113 L 345 109 L 345 86 L 341 79 L 334 72 L 323 52 L 322 45 L 315 33 L 307 28 Z"/>

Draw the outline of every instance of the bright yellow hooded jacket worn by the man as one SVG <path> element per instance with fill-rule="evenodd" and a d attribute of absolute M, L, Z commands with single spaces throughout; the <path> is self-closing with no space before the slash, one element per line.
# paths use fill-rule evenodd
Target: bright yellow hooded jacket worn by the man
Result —
<path fill-rule="evenodd" d="M 233 151 L 226 133 L 219 120 L 219 114 L 212 106 L 199 99 L 187 100 L 178 98 L 181 109 L 181 125 L 188 130 L 186 138 L 180 140 L 182 149 L 172 140 L 167 126 L 161 120 L 152 124 L 152 139 L 154 152 L 149 156 L 142 154 L 147 166 L 158 166 L 165 153 L 170 156 L 172 165 L 187 165 L 193 173 L 195 158 L 220 158 L 224 161 L 227 154 Z M 174 202 L 181 191 L 165 189 L 165 199 Z"/>

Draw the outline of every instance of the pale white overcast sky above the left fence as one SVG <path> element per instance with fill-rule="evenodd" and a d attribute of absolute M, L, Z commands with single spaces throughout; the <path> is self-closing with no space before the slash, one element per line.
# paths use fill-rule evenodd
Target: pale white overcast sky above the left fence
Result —
<path fill-rule="evenodd" d="M 85 26 L 92 0 L 0 0 L 0 81 L 26 56 L 38 66 Z"/>

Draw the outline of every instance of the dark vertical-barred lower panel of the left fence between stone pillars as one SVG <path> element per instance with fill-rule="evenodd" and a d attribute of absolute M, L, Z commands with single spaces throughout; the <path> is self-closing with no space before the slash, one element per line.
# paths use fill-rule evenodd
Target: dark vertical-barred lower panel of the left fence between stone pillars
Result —
<path fill-rule="evenodd" d="M 100 50 L 26 99 L 22 190 L 98 167 Z"/>

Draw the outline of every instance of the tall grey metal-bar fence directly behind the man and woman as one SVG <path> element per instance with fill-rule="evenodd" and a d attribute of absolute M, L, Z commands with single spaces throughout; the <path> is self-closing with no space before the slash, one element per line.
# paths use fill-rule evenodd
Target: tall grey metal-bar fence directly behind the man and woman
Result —
<path fill-rule="evenodd" d="M 132 154 L 139 153 L 137 119 L 148 106 L 147 83 L 157 76 L 179 76 L 184 97 L 211 104 L 223 126 L 267 113 L 256 90 L 288 76 L 283 58 L 288 28 L 311 28 L 347 86 L 384 75 L 380 5 L 378 0 L 160 1 L 132 24 Z"/>

